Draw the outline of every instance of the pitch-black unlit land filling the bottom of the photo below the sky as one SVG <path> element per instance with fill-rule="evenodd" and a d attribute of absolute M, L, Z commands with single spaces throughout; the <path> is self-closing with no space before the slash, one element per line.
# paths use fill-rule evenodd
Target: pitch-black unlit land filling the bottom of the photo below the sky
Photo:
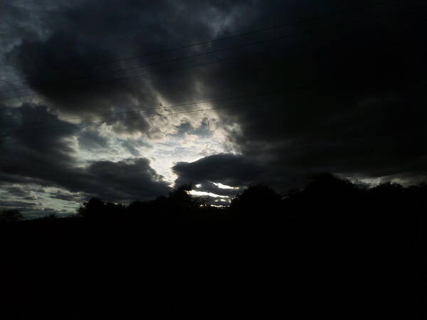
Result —
<path fill-rule="evenodd" d="M 328 183 L 3 223 L 2 319 L 424 319 L 426 187 Z"/>

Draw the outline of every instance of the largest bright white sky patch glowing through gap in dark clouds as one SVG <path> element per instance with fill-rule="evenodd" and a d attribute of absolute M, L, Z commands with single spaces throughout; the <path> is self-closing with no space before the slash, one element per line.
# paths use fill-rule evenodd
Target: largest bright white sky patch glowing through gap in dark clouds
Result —
<path fill-rule="evenodd" d="M 128 158 L 143 156 L 150 161 L 150 166 L 157 174 L 164 176 L 164 180 L 173 186 L 176 175 L 172 166 L 177 162 L 193 162 L 212 154 L 229 152 L 226 134 L 218 125 L 216 114 L 210 112 L 199 115 L 194 119 L 179 115 L 180 122 L 174 121 L 173 127 L 164 127 L 162 137 L 148 139 L 147 137 L 122 138 L 112 131 L 111 127 L 102 125 L 97 133 L 107 140 L 105 148 L 79 148 L 80 162 L 89 164 L 90 161 L 107 160 L 120 161 Z"/>

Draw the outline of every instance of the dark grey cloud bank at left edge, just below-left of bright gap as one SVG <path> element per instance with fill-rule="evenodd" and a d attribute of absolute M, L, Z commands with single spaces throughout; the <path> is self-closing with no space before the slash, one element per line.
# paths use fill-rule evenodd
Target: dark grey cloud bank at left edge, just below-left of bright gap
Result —
<path fill-rule="evenodd" d="M 62 122 L 60 129 L 34 129 L 26 124 L 56 119 L 46 107 L 25 105 L 3 108 L 0 119 L 9 122 L 9 132 L 0 144 L 0 181 L 3 183 L 36 183 L 56 186 L 73 193 L 83 192 L 110 201 L 154 198 L 169 191 L 163 177 L 144 158 L 120 162 L 93 161 L 78 166 L 73 149 L 77 127 Z M 56 126 L 58 126 L 56 119 Z M 17 190 L 9 188 L 9 190 Z M 79 199 L 80 196 L 72 196 Z M 53 198 L 60 198 L 56 195 Z M 70 199 L 63 199 L 70 200 Z"/>

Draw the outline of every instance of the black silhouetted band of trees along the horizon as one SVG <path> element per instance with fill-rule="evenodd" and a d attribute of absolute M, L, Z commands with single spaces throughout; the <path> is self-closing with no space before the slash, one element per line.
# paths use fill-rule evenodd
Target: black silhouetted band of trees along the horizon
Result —
<path fill-rule="evenodd" d="M 206 204 L 206 198 L 191 196 L 189 191 L 191 185 L 180 186 L 169 196 L 160 196 L 152 201 L 135 201 L 128 206 L 91 198 L 78 208 L 74 218 L 90 222 L 138 220 L 141 223 L 260 223 L 284 218 L 334 218 L 352 220 L 354 223 L 367 219 L 364 223 L 368 225 L 396 219 L 421 219 L 427 208 L 427 183 L 408 188 L 399 183 L 383 183 L 370 188 L 332 174 L 315 176 L 305 188 L 291 189 L 284 194 L 262 184 L 249 186 L 243 193 L 237 194 L 229 206 L 222 208 Z M 33 223 L 56 218 L 55 214 L 51 214 L 33 220 Z M 70 219 L 73 218 L 63 218 Z M 22 220 L 19 210 L 3 210 L 0 213 L 1 222 Z"/>

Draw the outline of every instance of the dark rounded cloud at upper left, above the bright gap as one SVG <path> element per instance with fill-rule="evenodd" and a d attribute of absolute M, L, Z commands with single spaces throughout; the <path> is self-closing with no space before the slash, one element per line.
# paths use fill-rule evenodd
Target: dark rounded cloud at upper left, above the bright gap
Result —
<path fill-rule="evenodd" d="M 28 55 L 29 52 L 31 55 Z M 111 82 L 112 78 L 106 78 L 103 74 L 105 70 L 92 68 L 94 61 L 114 60 L 115 55 L 96 46 L 95 41 L 86 43 L 68 31 L 55 31 L 46 41 L 23 41 L 10 55 L 21 76 L 27 79 L 28 87 L 46 99 L 52 112 L 77 116 L 107 114 L 86 121 L 110 121 L 126 119 L 125 114 L 120 117 L 108 115 L 111 112 L 141 108 L 154 102 L 152 94 L 144 87 L 135 90 L 130 82 Z M 31 92 L 20 90 L 10 96 Z M 132 103 L 130 99 L 138 102 Z M 130 132 L 149 129 L 147 122 L 135 117 L 135 114 L 132 121 L 127 119 L 126 122 L 113 124 L 120 132 L 125 131 L 123 128 L 126 127 Z"/>

